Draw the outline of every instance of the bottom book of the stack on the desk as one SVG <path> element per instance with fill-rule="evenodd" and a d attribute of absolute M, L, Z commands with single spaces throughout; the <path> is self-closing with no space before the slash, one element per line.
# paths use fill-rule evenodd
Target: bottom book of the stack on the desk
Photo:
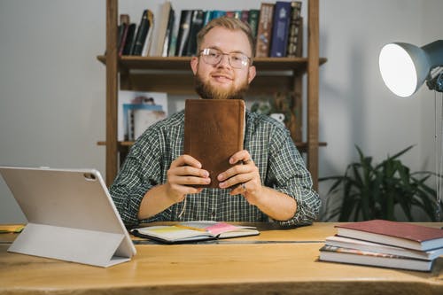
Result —
<path fill-rule="evenodd" d="M 320 249 L 319 260 L 419 271 L 430 271 L 434 261 L 419 260 L 380 252 L 361 251 L 332 245 L 323 245 Z"/>

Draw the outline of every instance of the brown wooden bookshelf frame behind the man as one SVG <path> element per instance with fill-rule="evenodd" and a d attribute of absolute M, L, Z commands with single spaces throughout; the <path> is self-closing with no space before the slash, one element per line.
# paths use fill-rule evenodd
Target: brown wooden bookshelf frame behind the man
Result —
<path fill-rule="evenodd" d="M 315 189 L 318 188 L 318 149 L 326 145 L 318 136 L 318 84 L 319 66 L 326 58 L 319 57 L 319 4 L 307 2 L 307 57 L 306 58 L 254 58 L 258 75 L 251 83 L 248 94 L 273 94 L 277 90 L 293 92 L 301 97 L 303 75 L 307 74 L 306 140 L 292 133 L 299 151 L 307 154 Z M 118 87 L 126 90 L 159 91 L 169 94 L 195 94 L 190 57 L 136 57 L 117 52 L 118 0 L 106 0 L 106 55 L 97 59 L 106 66 L 106 133 L 105 180 L 113 183 L 121 158 L 128 152 L 131 142 L 117 140 Z M 303 137 L 302 137 L 303 138 Z"/>

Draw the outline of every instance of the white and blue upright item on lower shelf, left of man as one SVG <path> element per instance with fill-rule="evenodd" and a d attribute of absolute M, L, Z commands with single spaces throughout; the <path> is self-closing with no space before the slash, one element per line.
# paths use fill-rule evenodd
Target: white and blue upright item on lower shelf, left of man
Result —
<path fill-rule="evenodd" d="M 120 90 L 118 108 L 118 140 L 133 141 L 167 118 L 167 93 Z"/>

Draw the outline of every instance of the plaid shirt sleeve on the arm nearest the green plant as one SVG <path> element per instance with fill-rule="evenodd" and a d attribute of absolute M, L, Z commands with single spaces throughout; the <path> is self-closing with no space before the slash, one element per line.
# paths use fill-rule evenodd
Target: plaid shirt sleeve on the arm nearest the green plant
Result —
<path fill-rule="evenodd" d="M 297 210 L 288 221 L 276 221 L 281 226 L 310 224 L 318 218 L 321 200 L 305 162 L 293 143 L 289 131 L 277 128 L 272 133 L 268 180 L 274 189 L 294 198 Z"/>

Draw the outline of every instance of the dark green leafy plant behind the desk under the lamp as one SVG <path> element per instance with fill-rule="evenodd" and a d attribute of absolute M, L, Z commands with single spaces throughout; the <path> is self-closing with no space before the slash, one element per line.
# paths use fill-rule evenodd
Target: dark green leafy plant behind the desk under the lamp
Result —
<path fill-rule="evenodd" d="M 372 157 L 363 155 L 356 146 L 360 161 L 349 164 L 345 175 L 320 178 L 333 181 L 328 191 L 325 220 L 361 221 L 385 219 L 400 221 L 402 212 L 407 221 L 414 221 L 414 208 L 423 209 L 431 221 L 437 221 L 436 190 L 426 184 L 435 173 L 411 173 L 399 159 L 409 146 L 381 163 L 372 163 Z M 399 210 L 400 209 L 400 210 Z"/>

